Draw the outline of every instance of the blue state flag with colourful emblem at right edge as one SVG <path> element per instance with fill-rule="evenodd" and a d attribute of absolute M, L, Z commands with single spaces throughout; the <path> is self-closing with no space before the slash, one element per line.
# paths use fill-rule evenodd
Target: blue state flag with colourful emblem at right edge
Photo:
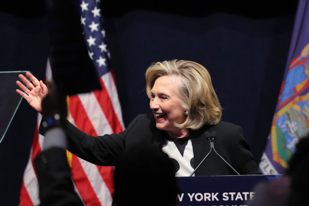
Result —
<path fill-rule="evenodd" d="M 262 159 L 263 174 L 283 174 L 295 144 L 309 135 L 309 0 L 299 0 L 286 70 Z"/>

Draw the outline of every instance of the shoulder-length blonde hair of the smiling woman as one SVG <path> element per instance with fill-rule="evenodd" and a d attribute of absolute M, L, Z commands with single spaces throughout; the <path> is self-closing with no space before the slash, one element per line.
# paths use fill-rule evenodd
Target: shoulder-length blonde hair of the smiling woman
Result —
<path fill-rule="evenodd" d="M 155 80 L 161 76 L 181 76 L 179 98 L 187 111 L 179 128 L 197 130 L 205 124 L 218 124 L 222 107 L 211 83 L 210 75 L 202 65 L 187 60 L 155 62 L 146 71 L 146 92 L 150 98 Z"/>

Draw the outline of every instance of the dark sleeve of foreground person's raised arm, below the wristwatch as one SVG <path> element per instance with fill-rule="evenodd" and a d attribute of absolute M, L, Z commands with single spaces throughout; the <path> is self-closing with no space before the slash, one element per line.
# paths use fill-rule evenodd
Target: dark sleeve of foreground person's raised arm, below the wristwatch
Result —
<path fill-rule="evenodd" d="M 84 205 L 71 180 L 67 153 L 62 148 L 50 148 L 34 159 L 38 176 L 41 205 Z"/>

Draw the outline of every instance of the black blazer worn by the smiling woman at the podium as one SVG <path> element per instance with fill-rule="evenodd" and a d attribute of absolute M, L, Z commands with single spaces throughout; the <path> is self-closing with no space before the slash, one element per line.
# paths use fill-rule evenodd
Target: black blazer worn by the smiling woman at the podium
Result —
<path fill-rule="evenodd" d="M 240 174 L 261 174 L 250 152 L 249 144 L 244 139 L 242 128 L 228 122 L 220 122 L 214 126 L 203 126 L 199 130 L 190 131 L 194 152 L 194 166 L 201 163 L 210 150 L 206 131 L 216 131 L 214 148 Z M 74 155 L 96 165 L 115 165 L 124 150 L 137 144 L 150 144 L 162 147 L 166 135 L 164 130 L 155 126 L 152 114 L 138 115 L 119 134 L 89 136 L 67 122 L 68 150 Z M 213 151 L 196 170 L 195 176 L 236 174 Z"/>

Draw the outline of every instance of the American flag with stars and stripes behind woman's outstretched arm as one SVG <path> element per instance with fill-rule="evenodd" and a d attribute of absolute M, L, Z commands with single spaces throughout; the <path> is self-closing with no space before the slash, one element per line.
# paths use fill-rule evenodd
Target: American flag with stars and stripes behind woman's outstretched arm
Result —
<path fill-rule="evenodd" d="M 100 76 L 102 90 L 73 95 L 69 98 L 69 121 L 88 135 L 120 133 L 124 130 L 122 111 L 118 100 L 113 70 L 108 67 L 110 54 L 105 44 L 105 31 L 100 10 L 100 0 L 80 1 L 80 21 L 84 28 L 85 43 L 89 58 L 95 63 Z M 51 77 L 47 64 L 47 79 Z M 87 72 L 87 68 L 85 68 Z M 21 187 L 20 205 L 39 205 L 38 181 L 32 165 L 41 152 L 44 137 L 38 135 L 38 115 L 36 135 L 32 144 Z M 67 152 L 71 165 L 72 179 L 76 192 L 85 205 L 111 205 L 113 194 L 113 167 L 93 165 Z"/>

